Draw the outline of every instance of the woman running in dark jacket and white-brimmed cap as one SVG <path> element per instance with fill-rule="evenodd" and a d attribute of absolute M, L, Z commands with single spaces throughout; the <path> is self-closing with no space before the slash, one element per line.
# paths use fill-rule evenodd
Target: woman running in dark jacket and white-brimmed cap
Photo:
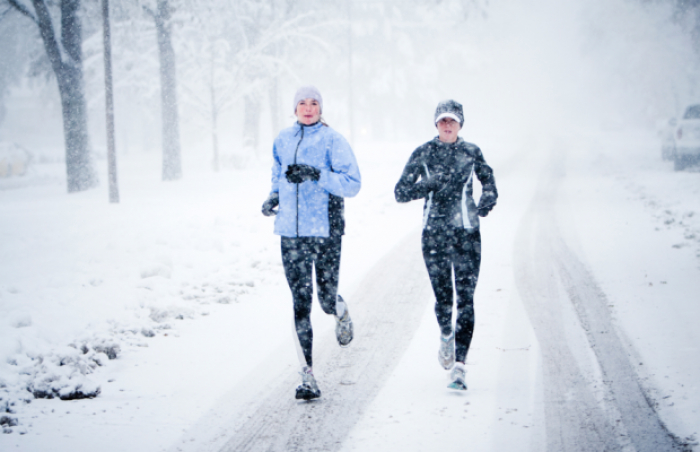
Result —
<path fill-rule="evenodd" d="M 496 205 L 498 191 L 493 170 L 481 150 L 458 136 L 463 123 L 461 104 L 454 100 L 438 104 L 438 136 L 413 151 L 394 194 L 398 202 L 425 198 L 422 248 L 440 326 L 438 359 L 447 370 L 454 366 L 449 387 L 464 390 L 464 363 L 474 332 L 474 290 L 481 263 L 479 217 L 488 215 Z M 482 185 L 479 205 L 472 197 L 474 176 Z M 455 289 L 457 320 L 453 329 Z"/>

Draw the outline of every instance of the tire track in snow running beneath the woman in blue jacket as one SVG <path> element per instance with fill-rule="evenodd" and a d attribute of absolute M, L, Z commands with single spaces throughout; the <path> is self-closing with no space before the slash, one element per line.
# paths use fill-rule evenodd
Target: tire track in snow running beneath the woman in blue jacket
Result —
<path fill-rule="evenodd" d="M 380 260 L 347 298 L 355 324 L 351 346 L 338 347 L 334 334 L 314 337 L 314 371 L 321 398 L 295 400 L 300 377 L 290 375 L 237 422 L 221 452 L 340 449 L 398 364 L 431 297 L 420 237 L 413 233 Z"/>

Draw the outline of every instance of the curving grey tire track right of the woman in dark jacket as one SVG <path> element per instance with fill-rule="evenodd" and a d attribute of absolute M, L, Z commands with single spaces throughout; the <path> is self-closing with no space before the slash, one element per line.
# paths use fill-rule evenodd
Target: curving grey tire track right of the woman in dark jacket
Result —
<path fill-rule="evenodd" d="M 518 289 L 543 355 L 547 450 L 683 450 L 647 400 L 605 294 L 558 230 L 561 151 L 542 178 L 515 250 Z M 582 331 L 567 331 L 567 313 Z"/>

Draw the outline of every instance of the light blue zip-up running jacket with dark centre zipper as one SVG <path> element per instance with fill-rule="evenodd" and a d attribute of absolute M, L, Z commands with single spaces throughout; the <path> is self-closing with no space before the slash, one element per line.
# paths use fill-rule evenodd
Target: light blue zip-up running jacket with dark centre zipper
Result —
<path fill-rule="evenodd" d="M 312 126 L 296 123 L 280 132 L 272 154 L 271 193 L 279 193 L 275 234 L 329 237 L 330 195 L 349 198 L 360 191 L 360 169 L 350 144 L 338 132 L 320 122 Z M 288 182 L 284 173 L 293 163 L 318 168 L 320 179 L 301 184 Z"/>

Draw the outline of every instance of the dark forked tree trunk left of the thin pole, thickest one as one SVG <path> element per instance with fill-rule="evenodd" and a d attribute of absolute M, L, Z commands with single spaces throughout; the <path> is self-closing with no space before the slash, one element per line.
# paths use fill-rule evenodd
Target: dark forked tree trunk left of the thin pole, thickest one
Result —
<path fill-rule="evenodd" d="M 46 55 L 56 75 L 61 96 L 63 137 L 66 149 L 66 181 L 68 192 L 87 190 L 97 185 L 87 130 L 87 104 L 83 81 L 82 28 L 80 0 L 61 0 L 60 43 L 44 0 L 32 0 L 35 14 L 16 0 L 10 5 L 31 19 L 38 27 Z"/>

